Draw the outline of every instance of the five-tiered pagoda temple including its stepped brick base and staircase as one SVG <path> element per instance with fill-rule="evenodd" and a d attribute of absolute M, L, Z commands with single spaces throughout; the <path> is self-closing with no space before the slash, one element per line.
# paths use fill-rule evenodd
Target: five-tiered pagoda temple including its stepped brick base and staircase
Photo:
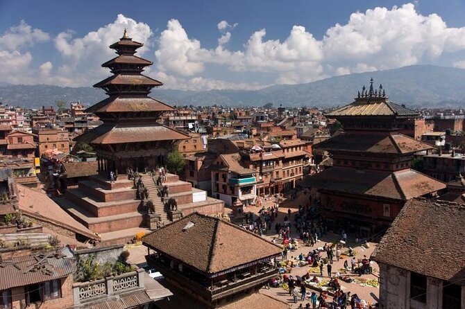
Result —
<path fill-rule="evenodd" d="M 87 109 L 99 116 L 103 125 L 76 138 L 94 147 L 98 170 L 88 171 L 88 179 L 55 199 L 94 232 L 101 245 L 128 242 L 136 233 L 148 233 L 194 211 L 208 215 L 224 211 L 223 201 L 192 188 L 178 175 L 167 173 L 160 184 L 158 172 L 151 173 L 165 165 L 173 143 L 189 136 L 157 123 L 161 114 L 173 107 L 149 97 L 151 89 L 162 83 L 142 75 L 152 62 L 134 55 L 141 46 L 126 30 L 119 42 L 110 46 L 118 56 L 103 67 L 110 68 L 113 76 L 94 85 L 105 89 L 109 98 Z M 117 177 L 110 179 L 111 172 Z"/>

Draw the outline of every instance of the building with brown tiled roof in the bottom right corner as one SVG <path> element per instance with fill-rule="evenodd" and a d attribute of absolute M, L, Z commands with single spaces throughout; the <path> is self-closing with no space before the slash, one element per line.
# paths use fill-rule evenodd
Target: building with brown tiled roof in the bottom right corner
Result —
<path fill-rule="evenodd" d="M 380 309 L 465 309 L 464 222 L 463 205 L 405 204 L 371 256 L 380 266 Z"/>

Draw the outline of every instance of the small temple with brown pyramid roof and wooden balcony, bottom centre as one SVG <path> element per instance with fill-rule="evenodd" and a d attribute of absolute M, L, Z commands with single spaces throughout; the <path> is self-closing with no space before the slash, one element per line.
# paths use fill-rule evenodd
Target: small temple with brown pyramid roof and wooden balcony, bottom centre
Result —
<path fill-rule="evenodd" d="M 202 308 L 219 308 L 254 295 L 278 275 L 271 261 L 282 252 L 280 246 L 254 233 L 199 213 L 154 231 L 142 242 L 149 248 L 149 265 L 203 303 Z"/>

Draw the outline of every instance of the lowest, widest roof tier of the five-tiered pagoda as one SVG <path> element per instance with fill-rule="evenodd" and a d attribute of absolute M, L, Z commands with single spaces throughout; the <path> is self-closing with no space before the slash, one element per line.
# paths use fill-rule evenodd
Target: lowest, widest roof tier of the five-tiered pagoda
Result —
<path fill-rule="evenodd" d="M 74 140 L 81 143 L 114 144 L 188 138 L 187 134 L 155 123 L 104 123 Z"/>

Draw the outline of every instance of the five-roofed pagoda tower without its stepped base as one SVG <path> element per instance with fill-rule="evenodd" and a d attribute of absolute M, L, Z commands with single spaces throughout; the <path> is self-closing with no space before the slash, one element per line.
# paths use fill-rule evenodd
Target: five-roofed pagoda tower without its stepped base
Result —
<path fill-rule="evenodd" d="M 188 139 L 187 134 L 157 123 L 164 112 L 174 108 L 149 96 L 153 87 L 162 82 L 144 76 L 142 71 L 153 62 L 134 55 L 144 44 L 135 42 L 126 30 L 119 42 L 110 45 L 118 56 L 102 64 L 112 76 L 98 82 L 109 98 L 86 109 L 94 113 L 103 125 L 76 138 L 96 150 L 99 173 L 126 174 L 128 168 L 142 172 L 164 166 L 171 144 Z"/>

